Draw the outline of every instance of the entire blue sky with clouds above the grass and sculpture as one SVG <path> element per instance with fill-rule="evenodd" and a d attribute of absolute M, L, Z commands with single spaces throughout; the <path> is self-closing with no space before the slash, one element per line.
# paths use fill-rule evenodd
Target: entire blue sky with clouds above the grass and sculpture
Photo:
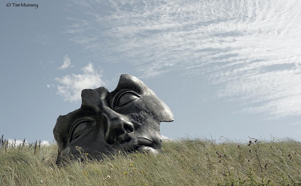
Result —
<path fill-rule="evenodd" d="M 301 2 L 36 1 L 0 5 L 5 138 L 52 141 L 84 88 L 132 74 L 175 121 L 169 138 L 301 134 Z"/>

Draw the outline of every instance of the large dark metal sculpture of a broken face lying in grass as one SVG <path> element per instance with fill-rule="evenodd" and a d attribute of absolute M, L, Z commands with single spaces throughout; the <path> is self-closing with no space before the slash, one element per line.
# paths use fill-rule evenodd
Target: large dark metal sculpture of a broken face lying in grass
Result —
<path fill-rule="evenodd" d="M 169 107 L 138 78 L 122 74 L 115 90 L 82 90 L 80 109 L 61 115 L 53 129 L 57 160 L 82 147 L 97 158 L 114 149 L 160 153 L 160 122 L 173 121 Z"/>

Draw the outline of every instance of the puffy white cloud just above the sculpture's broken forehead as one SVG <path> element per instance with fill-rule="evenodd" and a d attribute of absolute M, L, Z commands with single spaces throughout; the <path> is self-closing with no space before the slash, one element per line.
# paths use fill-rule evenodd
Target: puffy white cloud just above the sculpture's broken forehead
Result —
<path fill-rule="evenodd" d="M 64 97 L 65 101 L 81 100 L 81 92 L 83 89 L 97 88 L 105 85 L 101 79 L 101 71 L 94 69 L 93 64 L 89 63 L 81 69 L 83 74 L 69 74 L 63 77 L 56 77 L 57 94 Z"/>

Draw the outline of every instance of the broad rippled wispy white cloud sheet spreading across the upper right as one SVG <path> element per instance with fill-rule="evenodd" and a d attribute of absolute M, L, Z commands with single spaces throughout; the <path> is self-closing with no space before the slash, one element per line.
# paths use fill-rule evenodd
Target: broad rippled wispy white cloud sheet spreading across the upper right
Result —
<path fill-rule="evenodd" d="M 300 1 L 110 1 L 105 13 L 98 6 L 85 6 L 89 18 L 68 30 L 104 60 L 129 62 L 140 77 L 179 70 L 205 78 L 218 87 L 215 98 L 243 104 L 238 112 L 301 114 Z"/>

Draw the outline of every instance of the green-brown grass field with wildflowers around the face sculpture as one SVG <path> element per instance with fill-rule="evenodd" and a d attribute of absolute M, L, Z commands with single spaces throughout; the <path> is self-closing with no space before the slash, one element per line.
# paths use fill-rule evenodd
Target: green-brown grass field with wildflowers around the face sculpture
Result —
<path fill-rule="evenodd" d="M 2 142 L 0 185 L 301 185 L 301 143 L 291 139 L 168 140 L 158 156 L 116 152 L 67 166 L 56 155 L 56 144 Z"/>

